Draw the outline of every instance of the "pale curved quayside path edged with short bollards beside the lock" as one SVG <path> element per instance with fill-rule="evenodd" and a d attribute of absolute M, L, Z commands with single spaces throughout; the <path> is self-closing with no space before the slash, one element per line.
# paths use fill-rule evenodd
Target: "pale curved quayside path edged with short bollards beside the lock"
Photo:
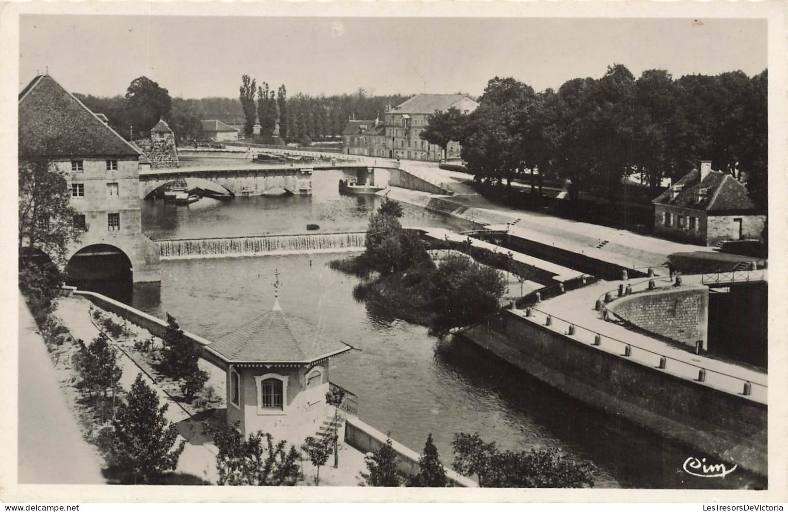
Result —
<path fill-rule="evenodd" d="M 688 278 L 688 282 L 697 280 L 693 276 L 685 277 Z M 643 281 L 643 279 L 639 281 Z M 548 301 L 540 302 L 532 309 L 532 316 L 528 317 L 528 320 L 544 325 L 546 317 L 550 315 L 552 316 L 552 325 L 549 328 L 562 333 L 567 333 L 571 323 L 575 326 L 573 338 L 589 346 L 593 346 L 595 334 L 601 334 L 600 346 L 593 347 L 619 356 L 623 356 L 625 347 L 630 345 L 630 358 L 652 368 L 659 367 L 660 357 L 667 357 L 666 368 L 663 371 L 684 379 L 697 380 L 698 372 L 703 368 L 706 370 L 705 385 L 728 393 L 742 394 L 744 383 L 750 382 L 752 383 L 752 394 L 749 398 L 766 403 L 768 394 L 766 373 L 727 361 L 697 355 L 660 339 L 630 331 L 617 323 L 602 320 L 600 312 L 594 308 L 597 299 L 604 296 L 604 293 L 618 290 L 619 284 L 626 286 L 632 282 L 635 280 L 600 281 L 572 290 Z M 660 286 L 671 286 L 669 278 L 658 278 L 657 282 Z M 512 313 L 526 318 L 526 310 L 516 309 Z"/>

